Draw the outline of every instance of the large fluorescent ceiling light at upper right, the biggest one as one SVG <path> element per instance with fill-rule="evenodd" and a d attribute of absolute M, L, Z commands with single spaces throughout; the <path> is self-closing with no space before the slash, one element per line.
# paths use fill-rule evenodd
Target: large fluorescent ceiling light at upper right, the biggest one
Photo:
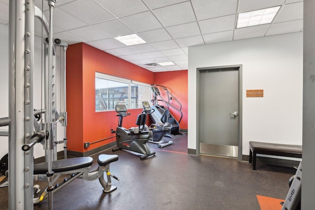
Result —
<path fill-rule="evenodd" d="M 271 23 L 281 6 L 259 9 L 238 14 L 236 29 Z"/>

